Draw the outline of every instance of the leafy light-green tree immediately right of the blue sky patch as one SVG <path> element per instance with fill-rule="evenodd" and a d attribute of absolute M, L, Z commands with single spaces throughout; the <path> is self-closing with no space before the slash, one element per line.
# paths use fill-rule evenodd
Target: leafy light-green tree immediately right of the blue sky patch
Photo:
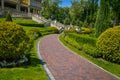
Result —
<path fill-rule="evenodd" d="M 72 6 L 70 8 L 69 14 L 70 14 L 70 19 L 71 23 L 73 25 L 76 25 L 76 20 L 79 21 L 84 21 L 85 19 L 85 14 L 84 14 L 84 2 L 83 0 L 79 1 L 73 1 Z"/>

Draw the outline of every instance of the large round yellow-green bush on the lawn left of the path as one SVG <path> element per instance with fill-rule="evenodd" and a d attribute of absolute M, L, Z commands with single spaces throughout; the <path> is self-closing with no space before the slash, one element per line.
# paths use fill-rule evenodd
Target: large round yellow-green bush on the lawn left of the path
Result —
<path fill-rule="evenodd" d="M 23 28 L 13 22 L 0 23 L 0 62 L 13 62 L 27 56 L 32 40 Z"/>

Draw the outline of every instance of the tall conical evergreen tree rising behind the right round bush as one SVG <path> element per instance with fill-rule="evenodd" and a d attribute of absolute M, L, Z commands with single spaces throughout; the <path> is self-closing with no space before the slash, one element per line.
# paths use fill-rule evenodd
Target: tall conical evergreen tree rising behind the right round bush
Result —
<path fill-rule="evenodd" d="M 101 0 L 100 2 L 100 10 L 97 15 L 97 19 L 95 22 L 95 36 L 99 37 L 99 35 L 110 27 L 110 8 L 109 8 L 109 0 Z"/>

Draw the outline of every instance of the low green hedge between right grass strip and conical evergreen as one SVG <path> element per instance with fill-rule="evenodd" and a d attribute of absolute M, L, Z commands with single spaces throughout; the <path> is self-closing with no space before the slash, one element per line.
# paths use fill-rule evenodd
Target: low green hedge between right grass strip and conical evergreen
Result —
<path fill-rule="evenodd" d="M 76 33 L 67 33 L 64 40 L 75 48 L 83 50 L 93 57 L 101 57 L 100 52 L 96 48 L 96 38 Z"/>

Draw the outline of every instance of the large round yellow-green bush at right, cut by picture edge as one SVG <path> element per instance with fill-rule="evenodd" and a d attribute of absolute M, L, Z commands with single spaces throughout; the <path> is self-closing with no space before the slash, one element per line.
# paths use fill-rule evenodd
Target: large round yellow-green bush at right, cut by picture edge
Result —
<path fill-rule="evenodd" d="M 96 45 L 104 59 L 120 63 L 120 26 L 109 28 L 103 32 Z"/>

